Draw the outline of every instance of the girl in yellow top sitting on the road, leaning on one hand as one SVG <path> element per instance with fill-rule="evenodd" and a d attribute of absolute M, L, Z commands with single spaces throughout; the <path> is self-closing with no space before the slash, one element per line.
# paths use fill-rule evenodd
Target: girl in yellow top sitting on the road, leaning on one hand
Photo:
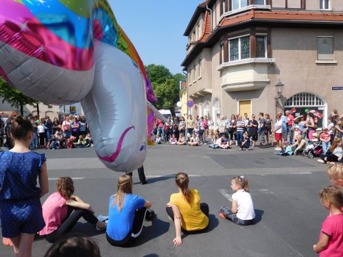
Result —
<path fill-rule="evenodd" d="M 187 234 L 203 232 L 209 226 L 209 205 L 200 204 L 200 193 L 193 188 L 189 189 L 187 173 L 178 173 L 175 176 L 178 193 L 170 196 L 167 204 L 167 214 L 175 222 L 176 238 L 174 245 L 182 244 L 181 230 Z"/>

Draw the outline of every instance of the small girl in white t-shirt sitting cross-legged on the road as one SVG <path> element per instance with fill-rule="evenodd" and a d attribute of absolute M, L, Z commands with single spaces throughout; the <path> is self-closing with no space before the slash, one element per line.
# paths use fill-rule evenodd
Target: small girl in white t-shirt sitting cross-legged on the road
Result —
<path fill-rule="evenodd" d="M 249 191 L 248 180 L 239 176 L 231 180 L 233 204 L 231 210 L 227 206 L 220 208 L 219 216 L 238 225 L 252 225 L 255 221 L 255 210 Z"/>

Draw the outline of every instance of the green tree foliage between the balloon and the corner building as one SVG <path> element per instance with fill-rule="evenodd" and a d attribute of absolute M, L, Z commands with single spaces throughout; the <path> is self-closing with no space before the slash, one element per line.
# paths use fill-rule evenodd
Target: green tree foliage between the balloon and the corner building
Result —
<path fill-rule="evenodd" d="M 174 103 L 179 101 L 180 80 L 186 81 L 186 76 L 181 73 L 172 75 L 163 65 L 150 64 L 145 69 L 158 99 L 154 103 L 156 108 L 173 108 Z"/>

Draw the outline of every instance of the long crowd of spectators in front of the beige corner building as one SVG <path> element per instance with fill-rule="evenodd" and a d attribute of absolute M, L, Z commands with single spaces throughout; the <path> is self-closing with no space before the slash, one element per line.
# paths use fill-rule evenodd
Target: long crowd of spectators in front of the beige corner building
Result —
<path fill-rule="evenodd" d="M 318 113 L 314 110 L 294 117 L 294 111 L 279 111 L 276 119 L 270 118 L 270 114 L 259 112 L 258 117 L 252 114 L 248 117 L 237 113 L 230 117 L 199 117 L 193 119 L 190 114 L 187 121 L 184 117 L 168 117 L 167 122 L 157 119 L 154 130 L 156 143 L 162 140 L 170 145 L 209 145 L 213 149 L 230 149 L 236 145 L 243 149 L 252 147 L 275 147 L 282 155 L 302 154 L 307 147 L 320 143 L 322 148 L 318 154 L 323 162 L 327 162 L 327 156 L 335 151 L 335 156 L 329 160 L 342 160 L 342 134 L 343 116 L 338 110 L 329 114 L 327 127 L 318 128 Z M 186 138 L 187 137 L 187 138 Z M 318 139 L 317 139 L 318 138 Z M 257 145 L 259 143 L 259 145 Z M 338 149 L 333 148 L 339 147 Z M 285 150 L 287 147 L 287 154 Z M 311 147 L 310 147 L 311 148 Z"/>

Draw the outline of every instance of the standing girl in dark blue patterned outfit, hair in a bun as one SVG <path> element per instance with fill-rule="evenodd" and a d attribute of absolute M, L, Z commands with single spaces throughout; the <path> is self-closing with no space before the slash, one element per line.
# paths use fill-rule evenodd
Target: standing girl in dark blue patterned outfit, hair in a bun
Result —
<path fill-rule="evenodd" d="M 0 153 L 1 230 L 16 256 L 31 256 L 34 235 L 45 226 L 40 197 L 49 191 L 47 164 L 44 154 L 29 150 L 34 137 L 29 120 L 16 117 L 11 135 L 14 147 Z"/>

